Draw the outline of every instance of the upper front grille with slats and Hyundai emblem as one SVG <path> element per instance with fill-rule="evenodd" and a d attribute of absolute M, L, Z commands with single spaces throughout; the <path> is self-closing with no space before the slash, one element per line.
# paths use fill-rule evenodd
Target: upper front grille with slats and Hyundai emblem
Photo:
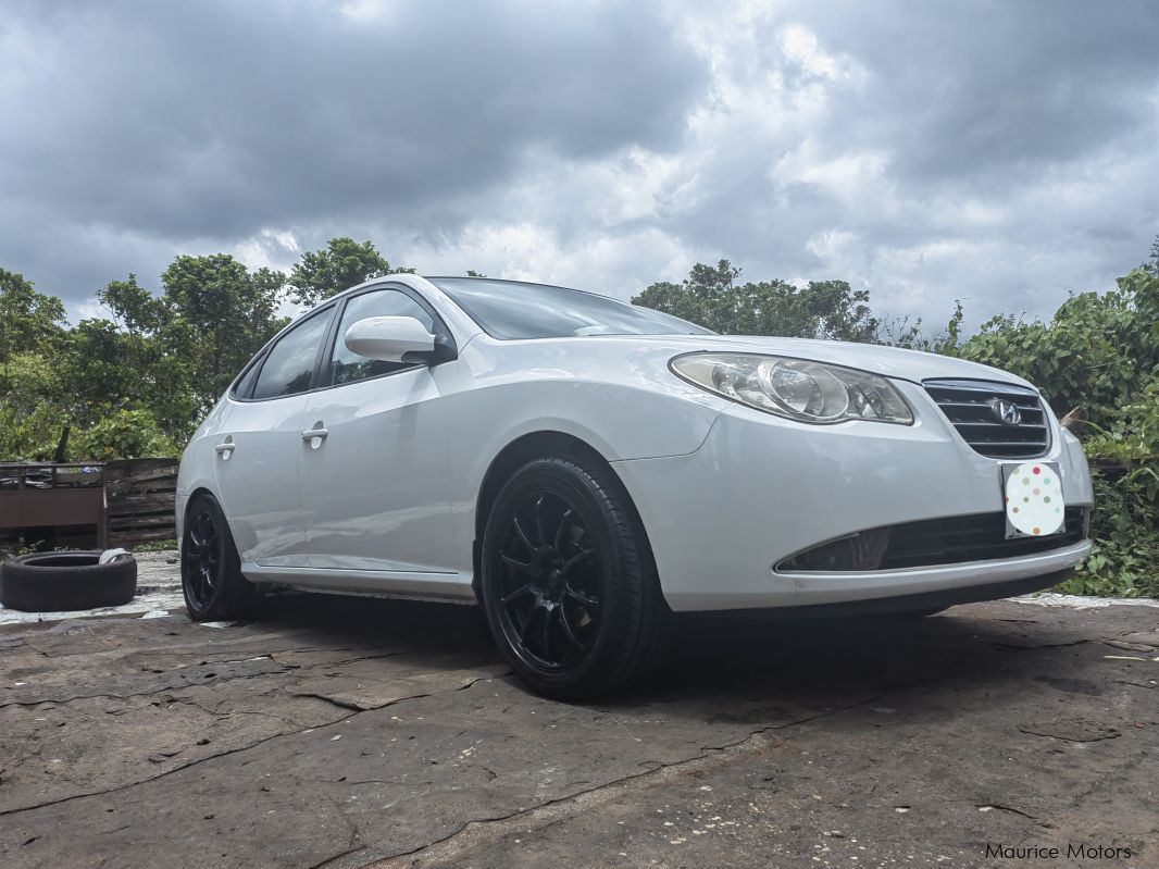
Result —
<path fill-rule="evenodd" d="M 1034 459 L 1047 452 L 1050 430 L 1034 389 L 987 380 L 926 380 L 923 386 L 965 443 L 991 459 Z M 999 402 L 1018 410 L 1003 422 Z"/>

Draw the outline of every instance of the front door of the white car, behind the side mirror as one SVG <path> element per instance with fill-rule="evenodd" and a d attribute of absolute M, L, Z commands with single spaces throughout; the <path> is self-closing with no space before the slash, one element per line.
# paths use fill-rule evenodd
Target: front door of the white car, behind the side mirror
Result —
<path fill-rule="evenodd" d="M 301 462 L 311 565 L 408 575 L 393 578 L 415 584 L 394 587 L 414 592 L 453 584 L 445 396 L 458 363 L 371 360 L 343 342 L 347 329 L 369 316 L 413 316 L 447 339 L 450 331 L 422 297 L 395 286 L 350 297 L 340 316 L 320 387 L 307 403 L 309 424 L 327 432 Z M 363 587 L 391 578 L 345 576 Z"/>

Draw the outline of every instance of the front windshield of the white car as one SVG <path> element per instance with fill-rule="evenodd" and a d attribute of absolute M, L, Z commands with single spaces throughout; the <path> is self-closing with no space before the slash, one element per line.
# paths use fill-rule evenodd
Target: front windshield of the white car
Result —
<path fill-rule="evenodd" d="M 562 286 L 481 278 L 428 278 L 496 338 L 584 335 L 712 335 L 670 314 Z"/>

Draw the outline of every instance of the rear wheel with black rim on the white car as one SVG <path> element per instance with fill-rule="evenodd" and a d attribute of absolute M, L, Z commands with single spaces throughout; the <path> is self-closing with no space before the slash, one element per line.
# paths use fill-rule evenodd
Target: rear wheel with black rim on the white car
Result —
<path fill-rule="evenodd" d="M 181 591 L 194 621 L 249 619 L 257 614 L 261 593 L 241 575 L 229 525 L 211 495 L 198 495 L 185 511 Z"/>

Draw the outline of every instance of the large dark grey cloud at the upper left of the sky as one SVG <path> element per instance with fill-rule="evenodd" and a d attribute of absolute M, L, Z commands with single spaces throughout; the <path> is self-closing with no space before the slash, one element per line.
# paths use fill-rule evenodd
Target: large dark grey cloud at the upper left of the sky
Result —
<path fill-rule="evenodd" d="M 364 22 L 321 2 L 17 9 L 3 38 L 28 51 L 0 74 L 6 211 L 167 239 L 417 224 L 429 203 L 512 177 L 531 147 L 670 148 L 705 81 L 640 5 L 399 3 Z"/>

